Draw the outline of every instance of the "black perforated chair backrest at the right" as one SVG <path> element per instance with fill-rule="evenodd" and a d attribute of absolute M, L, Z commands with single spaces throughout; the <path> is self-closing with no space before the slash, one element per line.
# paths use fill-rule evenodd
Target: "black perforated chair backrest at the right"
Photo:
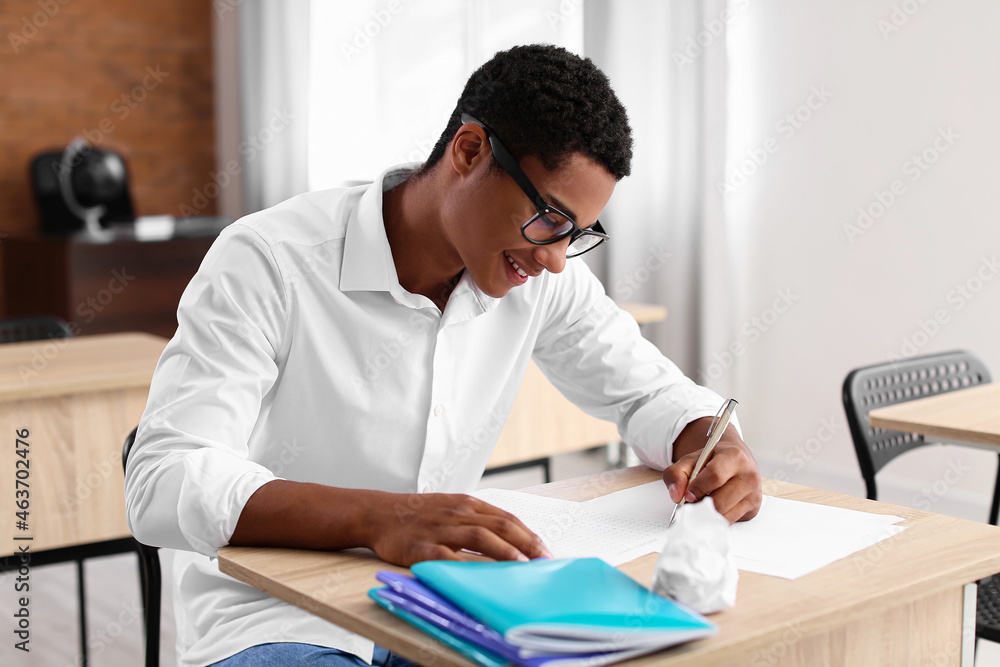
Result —
<path fill-rule="evenodd" d="M 876 499 L 875 473 L 885 464 L 900 454 L 928 444 L 922 435 L 869 425 L 869 412 L 987 382 L 990 382 L 990 372 L 986 365 L 965 350 L 912 357 L 851 371 L 844 380 L 844 412 L 868 497 Z"/>

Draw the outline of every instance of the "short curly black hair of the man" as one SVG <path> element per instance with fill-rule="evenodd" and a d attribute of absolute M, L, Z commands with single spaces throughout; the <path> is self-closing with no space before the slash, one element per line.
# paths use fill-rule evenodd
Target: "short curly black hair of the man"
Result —
<path fill-rule="evenodd" d="M 533 155 L 553 171 L 572 153 L 583 153 L 615 180 L 631 171 L 632 129 L 625 107 L 590 58 L 561 47 L 515 46 L 473 72 L 421 172 L 444 156 L 463 113 L 489 125 L 517 160 Z M 500 169 L 495 160 L 492 167 Z"/>

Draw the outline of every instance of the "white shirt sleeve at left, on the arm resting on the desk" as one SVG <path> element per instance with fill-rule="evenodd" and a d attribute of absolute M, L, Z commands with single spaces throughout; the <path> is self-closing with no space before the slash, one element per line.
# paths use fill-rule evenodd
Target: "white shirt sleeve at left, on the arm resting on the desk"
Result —
<path fill-rule="evenodd" d="M 267 244 L 230 225 L 181 297 L 129 456 L 129 528 L 145 544 L 216 556 L 250 496 L 276 479 L 249 459 L 278 376 L 287 295 Z"/>

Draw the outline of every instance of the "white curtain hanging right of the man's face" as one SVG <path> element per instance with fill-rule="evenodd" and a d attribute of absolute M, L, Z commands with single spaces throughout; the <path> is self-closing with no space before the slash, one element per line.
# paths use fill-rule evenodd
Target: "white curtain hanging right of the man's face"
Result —
<path fill-rule="evenodd" d="M 632 175 L 604 213 L 612 240 L 595 270 L 615 299 L 666 306 L 654 342 L 727 394 L 731 368 L 712 371 L 736 340 L 717 187 L 726 156 L 725 26 L 735 12 L 725 0 L 586 0 L 585 11 L 584 53 L 611 79 L 635 139 Z"/>

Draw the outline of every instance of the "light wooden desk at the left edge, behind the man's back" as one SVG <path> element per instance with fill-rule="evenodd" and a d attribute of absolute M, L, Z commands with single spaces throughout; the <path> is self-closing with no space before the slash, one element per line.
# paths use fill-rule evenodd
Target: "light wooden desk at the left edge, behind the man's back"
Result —
<path fill-rule="evenodd" d="M 16 431 L 28 429 L 32 551 L 129 537 L 121 451 L 167 341 L 108 334 L 0 345 L 0 557 L 15 553 Z M 23 465 L 23 464 L 22 464 Z M 23 544 L 23 542 L 21 542 Z"/>

